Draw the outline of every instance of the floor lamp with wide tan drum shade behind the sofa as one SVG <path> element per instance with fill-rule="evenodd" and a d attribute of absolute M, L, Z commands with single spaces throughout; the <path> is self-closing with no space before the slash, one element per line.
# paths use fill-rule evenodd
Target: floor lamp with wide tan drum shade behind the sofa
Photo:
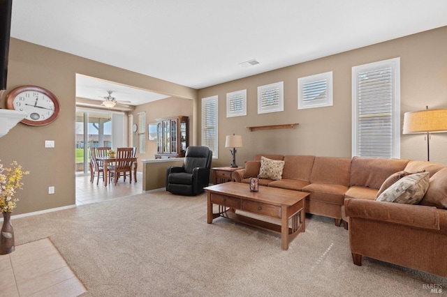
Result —
<path fill-rule="evenodd" d="M 425 133 L 427 161 L 430 161 L 430 133 L 447 132 L 447 109 L 425 109 L 404 114 L 403 134 Z"/>

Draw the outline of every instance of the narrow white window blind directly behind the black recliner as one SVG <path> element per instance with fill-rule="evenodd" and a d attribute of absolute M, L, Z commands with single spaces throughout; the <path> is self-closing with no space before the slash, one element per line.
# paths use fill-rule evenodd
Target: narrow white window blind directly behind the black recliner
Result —
<path fill-rule="evenodd" d="M 217 158 L 217 96 L 202 100 L 202 145 L 208 146 Z"/>

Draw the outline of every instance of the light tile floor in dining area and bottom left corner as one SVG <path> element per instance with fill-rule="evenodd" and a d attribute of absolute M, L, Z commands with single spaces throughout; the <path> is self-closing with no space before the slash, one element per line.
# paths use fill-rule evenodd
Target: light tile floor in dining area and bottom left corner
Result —
<path fill-rule="evenodd" d="M 142 192 L 138 182 L 121 180 L 104 187 L 102 180 L 90 183 L 90 176 L 76 176 L 76 205 L 117 199 Z M 86 291 L 49 238 L 17 245 L 15 252 L 0 255 L 0 296 L 79 296 Z"/>

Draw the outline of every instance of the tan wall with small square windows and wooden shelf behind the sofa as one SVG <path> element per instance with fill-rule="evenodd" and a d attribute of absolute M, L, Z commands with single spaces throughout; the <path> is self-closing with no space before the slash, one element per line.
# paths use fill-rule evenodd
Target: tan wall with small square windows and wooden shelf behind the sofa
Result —
<path fill-rule="evenodd" d="M 199 90 L 198 98 L 219 96 L 219 160 L 213 166 L 230 164 L 225 137 L 232 133 L 243 137 L 238 165 L 252 160 L 256 153 L 350 158 L 351 68 L 365 63 L 400 57 L 401 127 L 404 112 L 425 109 L 426 105 L 447 108 L 446 36 L 447 26 Z M 328 71 L 333 71 L 334 105 L 298 110 L 298 78 Z M 257 114 L 257 87 L 281 81 L 284 112 Z M 226 93 L 242 89 L 247 89 L 247 116 L 226 118 Z M 200 104 L 196 108 L 200 117 Z M 249 132 L 246 128 L 285 123 L 300 125 L 293 130 Z M 426 145 L 423 135 L 402 135 L 401 158 L 426 160 Z M 447 163 L 446 148 L 446 133 L 432 135 L 430 160 Z"/>

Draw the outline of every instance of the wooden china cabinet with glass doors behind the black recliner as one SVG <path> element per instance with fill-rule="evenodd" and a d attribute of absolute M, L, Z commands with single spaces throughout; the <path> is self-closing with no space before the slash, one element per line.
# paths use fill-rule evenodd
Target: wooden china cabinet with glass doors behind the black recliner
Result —
<path fill-rule="evenodd" d="M 157 153 L 156 159 L 183 158 L 189 146 L 189 118 L 157 119 Z"/>

